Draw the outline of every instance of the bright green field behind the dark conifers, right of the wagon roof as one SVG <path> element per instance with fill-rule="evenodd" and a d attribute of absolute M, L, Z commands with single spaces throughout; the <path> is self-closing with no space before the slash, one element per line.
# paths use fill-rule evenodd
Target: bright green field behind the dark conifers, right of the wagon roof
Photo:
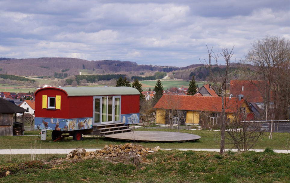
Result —
<path fill-rule="evenodd" d="M 140 83 L 142 84 L 142 88 L 151 88 L 153 89 L 156 85 L 156 81 L 140 81 Z M 163 88 L 166 90 L 166 89 L 169 89 L 169 88 L 172 88 L 172 87 L 182 87 L 184 86 L 185 88 L 188 88 L 189 86 L 189 81 L 162 81 L 161 80 L 161 83 L 163 85 Z M 199 87 L 201 87 L 203 85 L 202 82 L 200 81 L 196 81 L 196 84 L 198 84 Z"/>

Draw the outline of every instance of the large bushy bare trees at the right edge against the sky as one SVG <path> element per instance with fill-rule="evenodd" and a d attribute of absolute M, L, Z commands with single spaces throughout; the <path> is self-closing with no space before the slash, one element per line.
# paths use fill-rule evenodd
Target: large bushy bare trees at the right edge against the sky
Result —
<path fill-rule="evenodd" d="M 276 119 L 289 118 L 290 106 L 290 40 L 285 37 L 266 36 L 252 43 L 245 56 L 245 63 L 252 64 L 249 80 L 258 80 L 266 113 L 274 101 Z"/>

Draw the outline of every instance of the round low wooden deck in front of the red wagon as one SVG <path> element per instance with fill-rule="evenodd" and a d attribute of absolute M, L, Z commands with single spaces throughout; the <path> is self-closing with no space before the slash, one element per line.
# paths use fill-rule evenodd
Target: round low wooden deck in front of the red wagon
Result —
<path fill-rule="evenodd" d="M 200 136 L 178 132 L 134 131 L 104 135 L 106 138 L 125 141 L 143 142 L 185 142 L 200 139 Z"/>

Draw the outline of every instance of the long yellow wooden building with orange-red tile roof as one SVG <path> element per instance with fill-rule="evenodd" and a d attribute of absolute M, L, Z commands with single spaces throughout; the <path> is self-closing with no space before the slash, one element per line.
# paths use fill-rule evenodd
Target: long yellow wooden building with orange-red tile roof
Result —
<path fill-rule="evenodd" d="M 225 101 L 228 120 L 233 120 L 237 115 L 247 120 L 252 119 L 251 108 L 244 98 L 241 96 L 239 98 L 228 97 Z M 221 114 L 222 100 L 221 97 L 163 95 L 154 108 L 156 109 L 156 124 L 168 123 L 168 116 L 171 116 L 171 120 L 176 121 L 173 118 L 177 118 L 181 124 L 198 125 L 199 114 L 202 111 L 208 111 L 210 120 L 212 123 L 216 123 Z M 174 113 L 174 111 L 177 112 Z"/>

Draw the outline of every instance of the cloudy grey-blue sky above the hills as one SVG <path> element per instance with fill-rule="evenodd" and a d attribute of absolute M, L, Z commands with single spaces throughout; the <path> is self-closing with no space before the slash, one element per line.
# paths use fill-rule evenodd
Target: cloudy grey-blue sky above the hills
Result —
<path fill-rule="evenodd" d="M 290 39 L 289 0 L 1 0 L 1 57 L 200 63 L 207 48 L 243 58 L 266 35 Z"/>

